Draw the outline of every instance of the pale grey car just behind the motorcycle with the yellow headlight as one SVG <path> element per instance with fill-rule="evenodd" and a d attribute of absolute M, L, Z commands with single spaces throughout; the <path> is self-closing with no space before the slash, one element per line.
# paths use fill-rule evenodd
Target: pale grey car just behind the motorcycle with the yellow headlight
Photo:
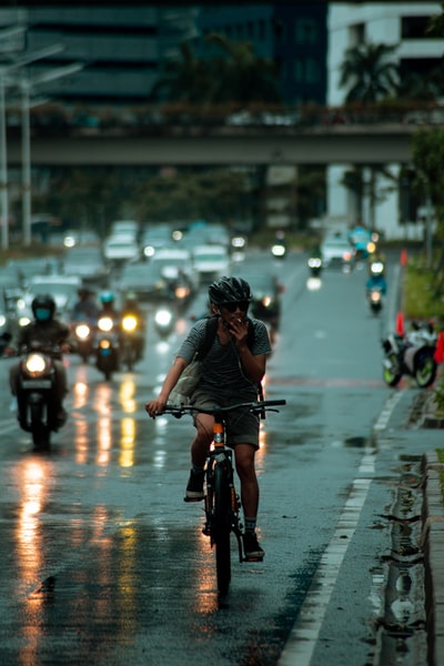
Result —
<path fill-rule="evenodd" d="M 149 261 L 128 263 L 123 266 L 117 289 L 124 300 L 133 293 L 141 302 L 170 300 L 172 297 L 168 280 L 160 268 Z"/>

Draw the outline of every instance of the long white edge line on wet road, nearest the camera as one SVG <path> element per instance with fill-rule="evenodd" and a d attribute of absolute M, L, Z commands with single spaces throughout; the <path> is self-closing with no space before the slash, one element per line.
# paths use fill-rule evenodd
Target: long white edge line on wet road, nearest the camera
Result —
<path fill-rule="evenodd" d="M 359 472 L 373 475 L 374 462 L 375 453 L 364 454 Z M 321 557 L 316 575 L 278 663 L 279 666 L 310 666 L 341 564 L 356 528 L 371 483 L 371 477 L 359 476 L 354 480 L 333 538 Z"/>

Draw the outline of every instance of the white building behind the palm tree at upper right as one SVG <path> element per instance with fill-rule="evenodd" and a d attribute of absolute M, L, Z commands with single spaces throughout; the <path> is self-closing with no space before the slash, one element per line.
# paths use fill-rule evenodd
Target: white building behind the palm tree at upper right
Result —
<path fill-rule="evenodd" d="M 426 72 L 431 63 L 436 64 L 444 53 L 444 39 L 424 37 L 424 28 L 430 17 L 441 14 L 440 2 L 380 2 L 349 3 L 331 2 L 329 6 L 329 52 L 327 52 L 327 104 L 341 105 L 346 90 L 340 88 L 340 70 L 349 48 L 359 43 L 397 46 L 394 61 L 403 71 Z M 345 220 L 353 225 L 357 220 L 356 202 L 350 191 L 341 184 L 344 172 L 351 164 L 336 164 L 329 168 L 327 210 L 329 219 Z M 398 164 L 389 164 L 390 172 L 397 176 Z M 370 170 L 364 172 L 364 181 L 370 178 Z M 385 180 L 385 182 L 384 182 Z M 387 179 L 379 176 L 381 189 L 392 189 Z M 424 224 L 417 220 L 401 223 L 400 190 L 385 194 L 384 201 L 372 210 L 369 196 L 364 194 L 363 222 L 384 232 L 387 240 L 421 240 Z"/>

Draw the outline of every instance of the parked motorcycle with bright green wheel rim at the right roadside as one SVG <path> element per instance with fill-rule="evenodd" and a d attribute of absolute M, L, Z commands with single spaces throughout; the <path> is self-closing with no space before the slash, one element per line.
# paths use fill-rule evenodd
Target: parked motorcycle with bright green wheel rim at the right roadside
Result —
<path fill-rule="evenodd" d="M 433 384 L 437 371 L 434 359 L 436 332 L 431 324 L 413 324 L 413 330 L 405 336 L 391 334 L 381 343 L 383 377 L 389 386 L 396 386 L 404 375 L 412 376 L 420 389 Z"/>

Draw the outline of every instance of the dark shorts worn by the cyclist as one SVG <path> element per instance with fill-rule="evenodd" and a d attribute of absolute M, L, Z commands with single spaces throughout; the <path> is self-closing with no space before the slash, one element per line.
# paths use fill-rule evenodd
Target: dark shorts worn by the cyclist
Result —
<path fill-rule="evenodd" d="M 254 401 L 255 396 L 239 396 L 236 395 L 233 400 L 233 394 L 230 397 L 213 394 L 206 389 L 198 389 L 194 391 L 191 403 L 196 407 L 211 408 L 215 404 L 221 407 L 228 406 L 233 402 L 248 402 Z M 259 448 L 259 416 L 251 414 L 248 408 L 233 410 L 232 412 L 224 413 L 225 418 L 225 441 L 228 446 L 235 446 L 236 444 L 251 444 L 254 448 Z"/>

